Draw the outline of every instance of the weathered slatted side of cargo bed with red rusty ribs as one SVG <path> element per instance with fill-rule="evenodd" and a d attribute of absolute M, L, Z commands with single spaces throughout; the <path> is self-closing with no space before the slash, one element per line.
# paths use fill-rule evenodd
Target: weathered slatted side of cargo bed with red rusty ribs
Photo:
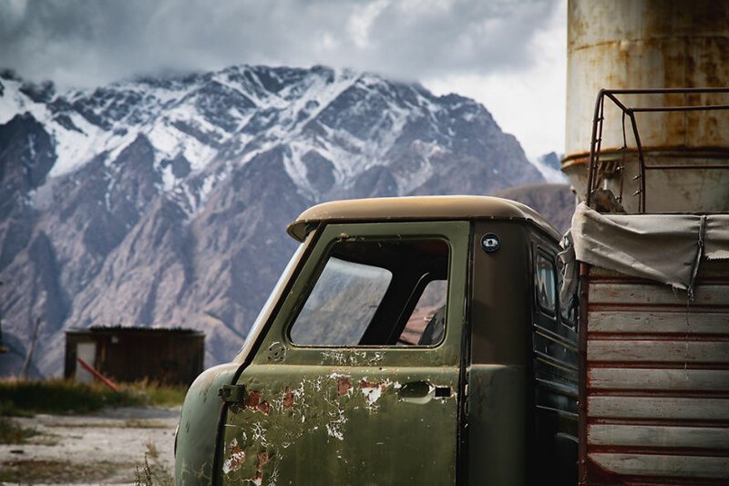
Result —
<path fill-rule="evenodd" d="M 693 303 L 590 267 L 580 484 L 729 481 L 729 278 L 702 265 Z"/>

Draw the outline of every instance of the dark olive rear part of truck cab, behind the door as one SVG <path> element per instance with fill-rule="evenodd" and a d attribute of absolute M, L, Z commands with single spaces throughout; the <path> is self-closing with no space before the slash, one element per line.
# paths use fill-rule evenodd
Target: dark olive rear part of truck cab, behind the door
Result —
<path fill-rule="evenodd" d="M 497 252 L 482 249 L 487 234 L 498 235 Z M 531 258 L 532 251 L 550 258 L 557 242 L 504 221 L 476 222 L 472 242 L 467 483 L 573 483 L 575 332 L 557 321 L 556 309 L 543 315 L 535 308 Z"/>

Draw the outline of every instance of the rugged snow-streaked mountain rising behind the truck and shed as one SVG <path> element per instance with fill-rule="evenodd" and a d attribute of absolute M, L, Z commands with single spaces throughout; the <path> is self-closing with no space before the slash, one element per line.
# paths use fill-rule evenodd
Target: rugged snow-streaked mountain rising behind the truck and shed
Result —
<path fill-rule="evenodd" d="M 539 167 L 539 166 L 537 166 Z M 488 110 L 328 67 L 56 92 L 0 75 L 3 339 L 60 373 L 63 331 L 185 326 L 230 359 L 315 202 L 544 181 Z"/>

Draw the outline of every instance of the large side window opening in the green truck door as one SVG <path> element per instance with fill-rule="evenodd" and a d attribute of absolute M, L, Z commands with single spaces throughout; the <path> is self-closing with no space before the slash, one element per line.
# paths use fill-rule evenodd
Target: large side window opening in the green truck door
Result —
<path fill-rule="evenodd" d="M 297 346 L 432 346 L 445 335 L 448 245 L 332 245 L 290 328 Z"/>

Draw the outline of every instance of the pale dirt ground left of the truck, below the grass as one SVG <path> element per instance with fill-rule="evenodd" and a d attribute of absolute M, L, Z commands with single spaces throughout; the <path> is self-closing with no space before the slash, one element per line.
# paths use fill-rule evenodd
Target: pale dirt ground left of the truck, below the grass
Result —
<path fill-rule="evenodd" d="M 38 434 L 26 444 L 0 444 L 7 484 L 134 483 L 147 453 L 155 483 L 171 480 L 180 408 L 111 408 L 94 415 L 15 419 Z"/>

